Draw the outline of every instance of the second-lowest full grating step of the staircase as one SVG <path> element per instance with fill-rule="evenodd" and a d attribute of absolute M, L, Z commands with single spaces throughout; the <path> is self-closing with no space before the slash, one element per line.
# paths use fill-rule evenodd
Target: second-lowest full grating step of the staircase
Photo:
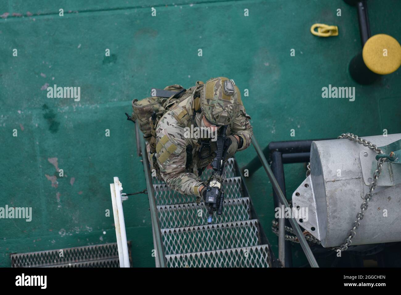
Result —
<path fill-rule="evenodd" d="M 259 245 L 258 221 L 164 228 L 162 238 L 166 254 L 256 246 Z"/>

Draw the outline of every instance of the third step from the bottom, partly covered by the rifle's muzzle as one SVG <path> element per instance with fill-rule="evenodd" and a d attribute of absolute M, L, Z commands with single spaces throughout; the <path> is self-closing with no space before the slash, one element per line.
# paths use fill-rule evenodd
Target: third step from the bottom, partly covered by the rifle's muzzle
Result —
<path fill-rule="evenodd" d="M 199 226 L 207 222 L 205 203 L 183 203 L 158 205 L 160 228 L 179 228 L 184 226 Z M 249 198 L 225 199 L 223 214 L 213 216 L 214 223 L 249 220 L 251 208 Z"/>

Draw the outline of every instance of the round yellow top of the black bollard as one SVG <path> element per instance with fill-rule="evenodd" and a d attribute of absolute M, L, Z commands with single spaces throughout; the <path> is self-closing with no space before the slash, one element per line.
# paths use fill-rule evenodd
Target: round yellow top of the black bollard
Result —
<path fill-rule="evenodd" d="M 371 71 L 387 75 L 397 71 L 401 65 L 401 46 L 390 35 L 377 34 L 366 41 L 362 57 Z"/>

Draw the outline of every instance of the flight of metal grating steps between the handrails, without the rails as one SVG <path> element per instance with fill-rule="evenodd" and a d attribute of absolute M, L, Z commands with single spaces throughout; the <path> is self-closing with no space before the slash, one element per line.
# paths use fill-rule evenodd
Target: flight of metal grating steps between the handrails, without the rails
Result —
<path fill-rule="evenodd" d="M 225 166 L 223 214 L 213 224 L 207 224 L 203 202 L 152 180 L 166 267 L 277 266 L 234 158 Z"/>

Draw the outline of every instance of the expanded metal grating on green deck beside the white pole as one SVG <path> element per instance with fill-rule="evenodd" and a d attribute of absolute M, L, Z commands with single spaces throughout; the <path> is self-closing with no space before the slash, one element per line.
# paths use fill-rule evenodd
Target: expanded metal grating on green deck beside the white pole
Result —
<path fill-rule="evenodd" d="M 11 267 L 119 267 L 117 243 L 11 254 Z"/>

